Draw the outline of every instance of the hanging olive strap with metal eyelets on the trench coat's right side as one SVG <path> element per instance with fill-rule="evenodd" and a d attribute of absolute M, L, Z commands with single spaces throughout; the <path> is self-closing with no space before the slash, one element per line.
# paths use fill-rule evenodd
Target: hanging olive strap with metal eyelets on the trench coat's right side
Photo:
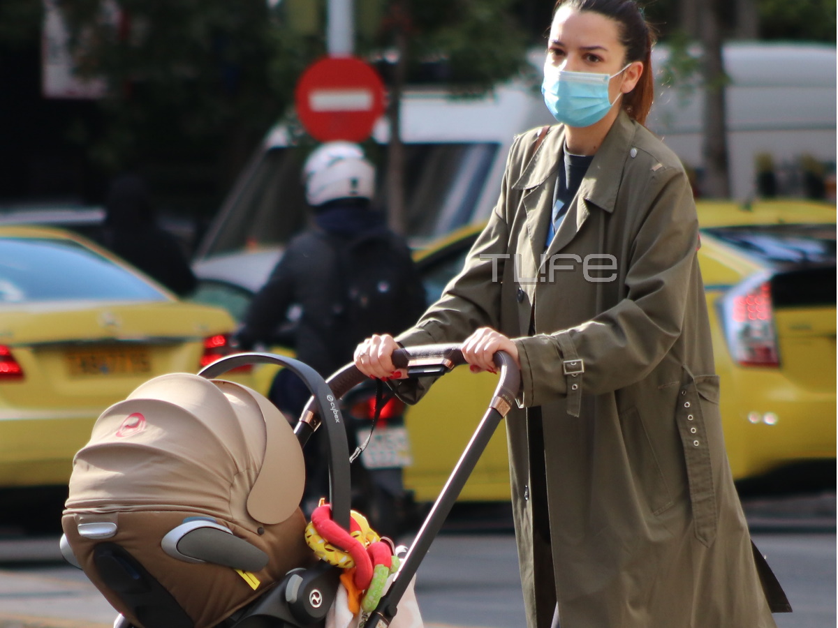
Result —
<path fill-rule="evenodd" d="M 694 377 L 686 368 L 684 373 L 675 405 L 675 422 L 684 447 L 696 538 L 709 547 L 716 538 L 718 517 L 705 411 L 718 412 L 719 378 L 717 375 Z"/>

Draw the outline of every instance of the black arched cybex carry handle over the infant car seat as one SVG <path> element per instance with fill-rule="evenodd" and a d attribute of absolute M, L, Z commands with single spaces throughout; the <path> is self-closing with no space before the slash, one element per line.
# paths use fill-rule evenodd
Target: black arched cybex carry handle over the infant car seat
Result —
<path fill-rule="evenodd" d="M 277 364 L 292 371 L 303 380 L 312 393 L 306 405 L 311 413 L 328 417 L 326 437 L 328 439 L 328 485 L 329 503 L 332 505 L 332 518 L 339 526 L 349 529 L 349 503 L 352 495 L 349 484 L 349 443 L 346 440 L 344 419 L 340 413 L 337 397 L 328 387 L 320 373 L 308 364 L 293 358 L 275 355 L 273 353 L 234 353 L 216 360 L 200 370 L 200 376 L 211 379 L 230 371 L 233 368 L 250 364 Z M 303 413 L 305 416 L 306 412 Z M 305 445 L 311 432 L 301 430 L 302 422 L 294 428 L 294 434 L 300 445 Z M 280 478 L 277 478 L 279 481 Z"/>

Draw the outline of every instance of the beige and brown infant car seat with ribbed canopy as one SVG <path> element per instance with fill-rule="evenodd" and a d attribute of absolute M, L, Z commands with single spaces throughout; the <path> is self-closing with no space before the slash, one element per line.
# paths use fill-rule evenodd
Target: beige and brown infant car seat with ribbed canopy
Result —
<path fill-rule="evenodd" d="M 106 409 L 75 456 L 62 551 L 138 628 L 210 628 L 315 557 L 303 451 L 237 383 L 170 373 Z"/>

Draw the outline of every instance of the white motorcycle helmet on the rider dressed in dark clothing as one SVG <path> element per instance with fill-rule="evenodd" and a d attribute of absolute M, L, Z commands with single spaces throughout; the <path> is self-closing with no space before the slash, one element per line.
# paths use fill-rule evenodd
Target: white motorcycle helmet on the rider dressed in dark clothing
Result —
<path fill-rule="evenodd" d="M 352 142 L 327 142 L 308 156 L 303 167 L 306 200 L 317 207 L 337 198 L 373 198 L 375 167 Z"/>

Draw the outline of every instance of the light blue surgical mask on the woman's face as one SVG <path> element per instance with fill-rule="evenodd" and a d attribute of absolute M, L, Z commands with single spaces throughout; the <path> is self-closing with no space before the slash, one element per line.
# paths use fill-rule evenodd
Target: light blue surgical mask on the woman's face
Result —
<path fill-rule="evenodd" d="M 544 69 L 541 93 L 544 102 L 557 121 L 567 126 L 591 126 L 605 117 L 614 102 L 608 100 L 610 81 L 617 74 L 602 75 L 597 72 L 572 72 L 566 69 Z M 622 92 L 617 96 L 619 98 Z"/>

